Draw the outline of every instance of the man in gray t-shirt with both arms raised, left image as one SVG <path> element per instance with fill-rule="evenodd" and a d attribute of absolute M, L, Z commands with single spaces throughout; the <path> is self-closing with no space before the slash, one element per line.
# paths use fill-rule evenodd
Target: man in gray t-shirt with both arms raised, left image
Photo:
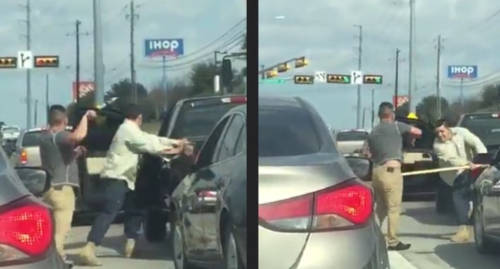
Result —
<path fill-rule="evenodd" d="M 40 136 L 40 160 L 42 168 L 51 177 L 52 187 L 44 193 L 44 201 L 54 211 L 55 241 L 57 252 L 65 258 L 64 239 L 71 230 L 78 189 L 78 166 L 76 157 L 82 153 L 78 145 L 87 136 L 88 119 L 95 117 L 94 111 L 88 111 L 81 119 L 75 131 L 67 131 L 68 117 L 66 109 L 55 104 L 49 108 L 49 128 Z"/>

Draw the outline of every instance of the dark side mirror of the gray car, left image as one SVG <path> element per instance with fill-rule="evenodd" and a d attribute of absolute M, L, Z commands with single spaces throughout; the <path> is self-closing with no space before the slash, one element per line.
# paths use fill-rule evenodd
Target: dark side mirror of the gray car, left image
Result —
<path fill-rule="evenodd" d="M 34 196 L 42 196 L 50 189 L 49 174 L 37 167 L 16 167 L 21 182 Z"/>

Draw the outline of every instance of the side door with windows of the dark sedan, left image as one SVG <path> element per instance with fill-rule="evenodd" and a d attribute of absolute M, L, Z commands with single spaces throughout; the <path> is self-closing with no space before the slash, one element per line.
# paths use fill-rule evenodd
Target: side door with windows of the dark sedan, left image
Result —
<path fill-rule="evenodd" d="M 245 126 L 245 117 L 239 112 L 234 112 L 224 133 L 220 137 L 217 149 L 213 157 L 213 165 L 210 165 L 210 171 L 213 176 L 207 178 L 198 190 L 198 198 L 202 202 L 203 214 L 201 215 L 201 227 L 205 240 L 203 241 L 203 250 L 208 260 L 217 260 L 222 255 L 222 249 L 219 244 L 219 221 L 218 209 L 220 202 L 220 190 L 229 181 L 234 179 L 238 167 L 235 156 L 242 153 L 242 148 L 237 147 L 238 138 L 241 136 Z M 206 179 L 201 179 L 205 181 Z"/>

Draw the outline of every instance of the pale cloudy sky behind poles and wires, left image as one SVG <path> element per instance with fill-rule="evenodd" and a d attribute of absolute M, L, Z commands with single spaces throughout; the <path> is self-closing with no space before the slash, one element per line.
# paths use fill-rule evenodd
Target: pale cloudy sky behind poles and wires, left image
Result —
<path fill-rule="evenodd" d="M 105 85 L 109 88 L 120 78 L 130 76 L 129 69 L 129 13 L 130 1 L 102 0 L 102 25 L 105 59 Z M 25 9 L 19 6 L 25 1 L 0 1 L 1 55 L 16 56 L 25 50 Z M 184 59 L 170 61 L 176 67 L 167 70 L 167 79 L 185 79 L 191 64 L 204 59 L 213 61 L 213 52 L 231 43 L 233 37 L 246 28 L 240 24 L 224 39 L 206 47 L 239 20 L 246 17 L 246 2 L 242 0 L 138 0 L 136 13 L 136 69 L 137 80 L 146 87 L 156 85 L 161 80 L 159 61 L 143 57 L 143 40 L 152 38 L 183 38 Z M 81 80 L 93 80 L 93 6 L 90 0 L 32 0 L 32 44 L 33 54 L 59 55 L 61 66 L 38 68 L 32 71 L 32 96 L 38 103 L 38 125 L 45 119 L 44 92 L 45 76 L 49 74 L 50 102 L 69 104 L 71 83 L 75 78 L 75 20 L 81 20 Z M 234 41 L 234 39 L 233 39 Z M 233 44 L 233 43 L 231 43 Z M 232 47 L 227 45 L 225 48 Z M 237 50 L 237 49 L 235 49 Z M 2 84 L 0 98 L 1 121 L 6 124 L 25 126 L 26 80 L 25 72 L 16 69 L 1 69 Z"/>

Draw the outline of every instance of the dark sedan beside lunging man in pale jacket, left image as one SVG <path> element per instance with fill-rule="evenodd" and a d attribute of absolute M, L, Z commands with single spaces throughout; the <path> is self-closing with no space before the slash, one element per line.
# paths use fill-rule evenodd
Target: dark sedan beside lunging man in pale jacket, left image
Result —
<path fill-rule="evenodd" d="M 196 164 L 172 193 L 176 269 L 246 268 L 246 105 L 215 126 Z"/>

